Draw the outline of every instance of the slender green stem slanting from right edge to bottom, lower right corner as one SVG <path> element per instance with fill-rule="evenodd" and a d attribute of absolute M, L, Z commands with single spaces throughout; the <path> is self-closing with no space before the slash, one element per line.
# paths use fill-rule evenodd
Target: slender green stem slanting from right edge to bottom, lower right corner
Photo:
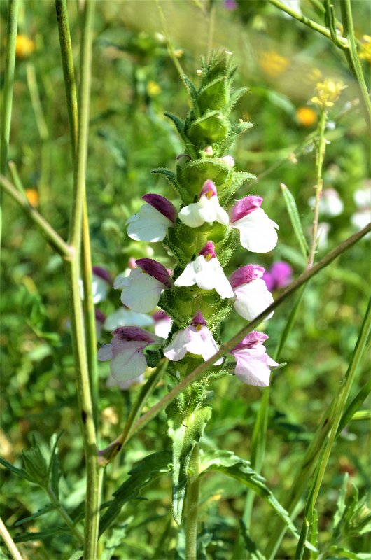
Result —
<path fill-rule="evenodd" d="M 363 349 L 365 347 L 365 342 L 371 330 L 371 298 L 367 305 L 367 310 L 365 313 L 365 318 L 363 319 L 363 324 L 360 329 L 360 334 L 356 343 L 356 347 L 353 351 L 353 356 L 349 363 L 348 370 L 346 371 L 344 381 L 342 381 L 342 386 L 340 386 L 337 395 L 335 396 L 335 407 L 332 416 L 329 417 L 329 431 L 328 436 L 325 439 L 325 444 L 321 456 L 318 456 L 316 475 L 311 483 L 311 488 L 309 490 L 309 496 L 307 499 L 307 504 L 305 505 L 305 516 L 302 524 L 302 531 L 300 533 L 300 540 L 297 544 L 297 549 L 295 553 L 295 558 L 298 560 L 302 559 L 305 550 L 305 541 L 307 540 L 307 535 L 309 528 L 313 522 L 314 507 L 316 506 L 316 501 L 318 498 L 319 490 L 321 489 L 323 476 L 325 475 L 325 470 L 327 468 L 328 459 L 330 458 L 332 445 L 335 442 L 337 436 L 337 429 L 339 428 L 339 423 L 342 419 L 342 414 L 344 411 L 346 400 L 349 396 L 351 386 L 353 385 L 354 379 L 356 377 L 356 371 L 360 358 L 363 354 Z"/>

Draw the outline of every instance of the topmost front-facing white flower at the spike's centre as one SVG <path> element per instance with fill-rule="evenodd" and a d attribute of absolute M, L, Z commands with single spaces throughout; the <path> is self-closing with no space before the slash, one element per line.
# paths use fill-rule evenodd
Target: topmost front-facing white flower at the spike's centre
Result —
<path fill-rule="evenodd" d="M 219 204 L 216 186 L 213 181 L 208 179 L 204 182 L 200 192 L 200 200 L 183 207 L 179 212 L 179 219 L 190 228 L 198 228 L 205 222 L 212 223 L 214 221 L 228 225 L 228 214 Z"/>

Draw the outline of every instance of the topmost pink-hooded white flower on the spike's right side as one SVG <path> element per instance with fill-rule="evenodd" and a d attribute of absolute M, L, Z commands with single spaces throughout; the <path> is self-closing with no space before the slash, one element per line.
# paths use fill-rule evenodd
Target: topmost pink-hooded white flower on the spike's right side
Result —
<path fill-rule="evenodd" d="M 230 209 L 232 228 L 239 230 L 241 245 L 253 253 L 268 253 L 277 244 L 279 226 L 260 208 L 262 197 L 241 198 Z M 276 228 L 276 229 L 275 229 Z"/>

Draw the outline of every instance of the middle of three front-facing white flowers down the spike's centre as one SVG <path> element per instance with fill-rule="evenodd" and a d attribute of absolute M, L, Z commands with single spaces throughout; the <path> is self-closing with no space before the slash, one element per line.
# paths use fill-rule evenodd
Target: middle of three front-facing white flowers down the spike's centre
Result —
<path fill-rule="evenodd" d="M 233 290 L 227 276 L 223 272 L 221 263 L 216 258 L 212 241 L 201 249 L 200 255 L 189 262 L 174 286 L 193 286 L 197 284 L 202 290 L 216 290 L 222 299 L 233 297 Z"/>

